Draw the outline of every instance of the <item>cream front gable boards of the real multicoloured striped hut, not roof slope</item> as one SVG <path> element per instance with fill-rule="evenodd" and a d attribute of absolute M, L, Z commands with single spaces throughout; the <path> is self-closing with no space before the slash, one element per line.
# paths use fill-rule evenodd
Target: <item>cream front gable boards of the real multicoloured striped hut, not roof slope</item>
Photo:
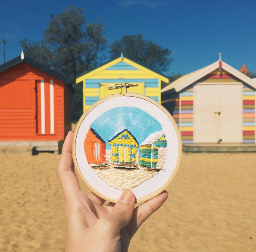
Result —
<path fill-rule="evenodd" d="M 195 83 L 197 80 L 200 80 L 201 78 L 203 78 L 207 74 L 210 74 L 212 71 L 214 71 L 214 70 L 216 70 L 218 68 L 219 68 L 219 61 L 216 61 L 212 65 L 209 65 L 209 66 L 203 68 L 201 71 L 198 71 L 198 73 L 192 75 L 187 80 L 184 80 L 183 82 L 179 83 L 177 86 L 174 87 L 175 91 L 176 92 L 181 91 L 182 89 L 186 88 L 190 84 Z M 228 65 L 224 61 L 222 61 L 222 69 L 227 71 L 229 74 L 234 75 L 234 77 L 237 77 L 238 79 L 244 81 L 244 83 L 249 84 L 254 89 L 256 89 L 256 82 L 255 82 L 255 80 L 247 77 L 245 74 L 243 74 L 240 71 L 236 70 L 235 68 L 231 67 L 230 65 Z M 171 85 L 171 84 L 169 84 L 169 85 Z"/>

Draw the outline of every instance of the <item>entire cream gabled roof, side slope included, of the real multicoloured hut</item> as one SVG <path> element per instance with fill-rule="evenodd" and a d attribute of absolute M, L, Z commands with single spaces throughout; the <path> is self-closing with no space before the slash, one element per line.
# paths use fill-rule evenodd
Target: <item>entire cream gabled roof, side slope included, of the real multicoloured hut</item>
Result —
<path fill-rule="evenodd" d="M 212 71 L 218 68 L 219 68 L 219 61 L 216 61 L 207 67 L 201 68 L 197 71 L 181 76 L 180 78 L 178 78 L 177 80 L 175 80 L 174 82 L 170 83 L 168 86 L 163 88 L 161 92 L 164 93 L 169 90 L 170 91 L 173 90 L 173 92 L 179 92 L 182 89 L 189 86 L 190 84 L 196 82 L 197 80 L 200 80 L 201 78 L 203 78 L 207 74 L 210 74 Z M 256 89 L 255 81 L 253 81 L 250 77 L 247 77 L 245 74 L 241 73 L 240 71 L 236 70 L 235 68 L 231 67 L 224 61 L 222 61 L 222 69 Z"/>

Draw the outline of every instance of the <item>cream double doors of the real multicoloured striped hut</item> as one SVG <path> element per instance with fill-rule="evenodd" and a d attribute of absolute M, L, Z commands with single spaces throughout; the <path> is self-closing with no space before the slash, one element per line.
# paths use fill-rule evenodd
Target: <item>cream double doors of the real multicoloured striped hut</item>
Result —
<path fill-rule="evenodd" d="M 242 142 L 241 84 L 199 84 L 194 92 L 194 142 Z"/>

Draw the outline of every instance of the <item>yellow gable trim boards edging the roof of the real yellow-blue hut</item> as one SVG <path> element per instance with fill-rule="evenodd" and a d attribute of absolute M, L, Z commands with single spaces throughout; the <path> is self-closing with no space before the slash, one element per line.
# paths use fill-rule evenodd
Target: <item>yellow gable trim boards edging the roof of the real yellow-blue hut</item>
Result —
<path fill-rule="evenodd" d="M 85 79 L 89 79 L 90 77 L 94 76 L 97 73 L 100 73 L 101 71 L 107 70 L 108 68 L 111 68 L 113 65 L 116 65 L 120 62 L 125 62 L 129 65 L 131 65 L 134 68 L 137 68 L 138 70 L 147 72 L 148 74 L 151 74 L 153 77 L 162 80 L 165 83 L 169 83 L 169 78 L 164 76 L 163 74 L 157 73 L 156 71 L 150 70 L 149 68 L 140 65 L 134 61 L 132 61 L 129 58 L 125 58 L 125 57 L 119 57 L 116 58 L 112 61 L 108 61 L 106 63 L 104 63 L 103 65 L 91 70 L 91 71 L 87 71 L 86 73 L 80 74 L 76 77 L 76 83 L 80 83 L 81 81 L 85 80 Z"/>

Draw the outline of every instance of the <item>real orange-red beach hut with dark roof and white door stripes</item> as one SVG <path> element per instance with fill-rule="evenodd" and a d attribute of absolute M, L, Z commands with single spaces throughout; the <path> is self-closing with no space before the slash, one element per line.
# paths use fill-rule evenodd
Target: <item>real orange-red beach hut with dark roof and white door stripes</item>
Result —
<path fill-rule="evenodd" d="M 66 83 L 65 76 L 23 54 L 1 65 L 0 141 L 64 140 L 71 130 Z"/>

